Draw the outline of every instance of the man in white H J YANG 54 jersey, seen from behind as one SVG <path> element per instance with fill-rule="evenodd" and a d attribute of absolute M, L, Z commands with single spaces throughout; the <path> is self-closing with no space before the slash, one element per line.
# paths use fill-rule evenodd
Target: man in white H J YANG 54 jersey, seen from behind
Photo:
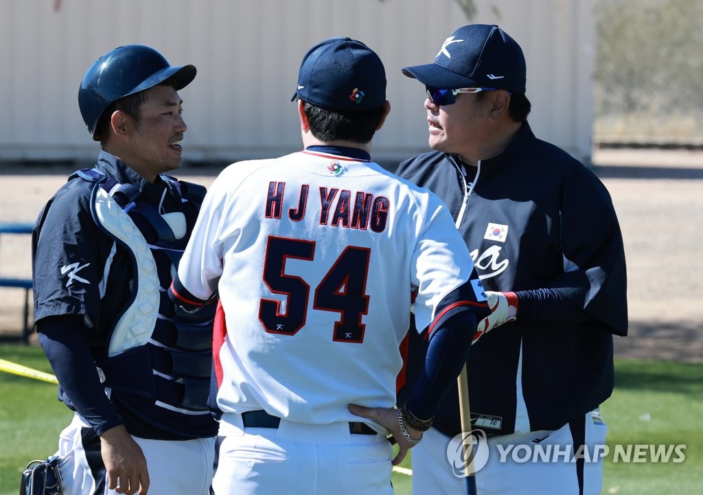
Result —
<path fill-rule="evenodd" d="M 215 495 L 391 495 L 489 314 L 444 204 L 370 161 L 385 85 L 361 42 L 316 44 L 292 98 L 304 150 L 235 163 L 205 197 L 170 294 L 220 297 Z M 411 297 L 430 351 L 394 409 Z"/>

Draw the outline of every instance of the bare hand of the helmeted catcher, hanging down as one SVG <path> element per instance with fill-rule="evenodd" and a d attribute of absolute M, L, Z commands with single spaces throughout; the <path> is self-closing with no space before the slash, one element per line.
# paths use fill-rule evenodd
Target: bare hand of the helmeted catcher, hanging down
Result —
<path fill-rule="evenodd" d="M 146 495 L 149 473 L 146 458 L 124 425 L 115 426 L 100 436 L 101 454 L 108 475 L 108 488 L 118 494 Z M 119 484 L 118 484 L 119 480 Z"/>

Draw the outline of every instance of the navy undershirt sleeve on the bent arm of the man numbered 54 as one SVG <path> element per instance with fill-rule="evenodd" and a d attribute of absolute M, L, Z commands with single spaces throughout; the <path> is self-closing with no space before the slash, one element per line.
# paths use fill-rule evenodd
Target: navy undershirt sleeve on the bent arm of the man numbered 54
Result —
<path fill-rule="evenodd" d="M 408 399 L 408 409 L 418 418 L 433 418 L 442 397 L 456 383 L 466 363 L 476 325 L 473 311 L 460 311 L 430 335 L 425 366 Z"/>

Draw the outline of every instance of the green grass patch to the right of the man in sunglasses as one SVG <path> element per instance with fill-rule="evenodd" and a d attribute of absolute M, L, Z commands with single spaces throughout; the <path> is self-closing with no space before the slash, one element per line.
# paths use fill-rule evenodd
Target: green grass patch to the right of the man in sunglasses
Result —
<path fill-rule="evenodd" d="M 608 423 L 603 494 L 700 494 L 703 364 L 618 360 Z M 615 444 L 685 444 L 683 463 L 614 463 Z"/>

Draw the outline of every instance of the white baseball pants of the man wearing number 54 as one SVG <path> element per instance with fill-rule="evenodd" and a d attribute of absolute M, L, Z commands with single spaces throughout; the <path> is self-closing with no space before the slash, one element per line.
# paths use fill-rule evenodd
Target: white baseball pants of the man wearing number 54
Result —
<path fill-rule="evenodd" d="M 348 423 L 244 428 L 226 413 L 219 435 L 214 495 L 393 495 L 391 444 Z"/>

